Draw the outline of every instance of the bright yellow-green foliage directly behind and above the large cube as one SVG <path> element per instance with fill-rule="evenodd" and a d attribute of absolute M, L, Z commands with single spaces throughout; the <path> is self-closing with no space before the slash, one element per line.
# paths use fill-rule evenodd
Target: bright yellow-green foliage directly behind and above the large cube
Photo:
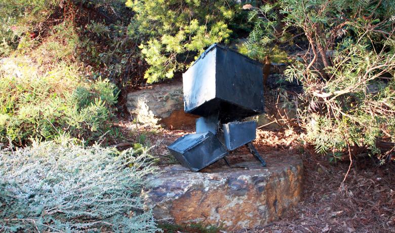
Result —
<path fill-rule="evenodd" d="M 148 83 L 171 79 L 190 57 L 213 43 L 230 40 L 229 23 L 238 14 L 233 1 L 136 1 L 127 6 L 136 12 L 130 35 L 141 42 L 139 48 L 149 67 Z"/>

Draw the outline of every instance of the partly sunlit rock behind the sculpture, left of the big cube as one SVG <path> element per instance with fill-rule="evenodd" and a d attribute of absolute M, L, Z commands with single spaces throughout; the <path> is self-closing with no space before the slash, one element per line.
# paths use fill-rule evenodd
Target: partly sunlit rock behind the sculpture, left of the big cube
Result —
<path fill-rule="evenodd" d="M 130 92 L 126 106 L 139 123 L 165 125 L 171 129 L 195 124 L 195 115 L 184 112 L 182 83 L 153 85 Z"/>

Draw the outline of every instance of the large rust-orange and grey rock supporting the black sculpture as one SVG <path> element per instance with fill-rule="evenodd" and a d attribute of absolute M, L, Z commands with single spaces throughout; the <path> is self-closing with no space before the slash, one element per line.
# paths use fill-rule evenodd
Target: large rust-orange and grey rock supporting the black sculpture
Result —
<path fill-rule="evenodd" d="M 291 155 L 259 162 L 217 162 L 190 172 L 181 165 L 164 168 L 143 190 L 145 206 L 156 219 L 176 224 L 200 223 L 226 230 L 253 228 L 277 220 L 295 206 L 302 190 L 302 161 Z"/>

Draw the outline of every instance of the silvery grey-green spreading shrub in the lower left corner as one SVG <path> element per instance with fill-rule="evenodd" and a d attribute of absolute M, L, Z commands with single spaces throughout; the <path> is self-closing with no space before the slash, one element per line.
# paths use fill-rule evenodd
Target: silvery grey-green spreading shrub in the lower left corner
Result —
<path fill-rule="evenodd" d="M 157 232 L 139 198 L 145 153 L 64 142 L 0 151 L 0 231 Z"/>

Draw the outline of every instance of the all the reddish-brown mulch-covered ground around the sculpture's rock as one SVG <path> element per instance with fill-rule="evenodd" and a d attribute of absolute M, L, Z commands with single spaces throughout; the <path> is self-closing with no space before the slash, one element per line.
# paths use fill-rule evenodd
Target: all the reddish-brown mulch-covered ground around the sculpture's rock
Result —
<path fill-rule="evenodd" d="M 194 132 L 192 128 L 167 130 L 128 122 L 121 122 L 120 127 L 129 140 L 143 139 L 145 144 L 151 145 L 151 153 L 160 157 L 160 166 L 177 163 L 166 146 Z M 299 205 L 279 221 L 238 233 L 395 232 L 394 162 L 379 166 L 373 158 L 354 160 L 342 184 L 349 161 L 331 164 L 329 158 L 301 146 L 298 133 L 293 130 L 258 129 L 254 144 L 261 154 L 270 151 L 300 154 L 304 165 L 303 196 Z M 235 150 L 229 156 L 243 154 L 244 150 L 247 148 Z"/>

